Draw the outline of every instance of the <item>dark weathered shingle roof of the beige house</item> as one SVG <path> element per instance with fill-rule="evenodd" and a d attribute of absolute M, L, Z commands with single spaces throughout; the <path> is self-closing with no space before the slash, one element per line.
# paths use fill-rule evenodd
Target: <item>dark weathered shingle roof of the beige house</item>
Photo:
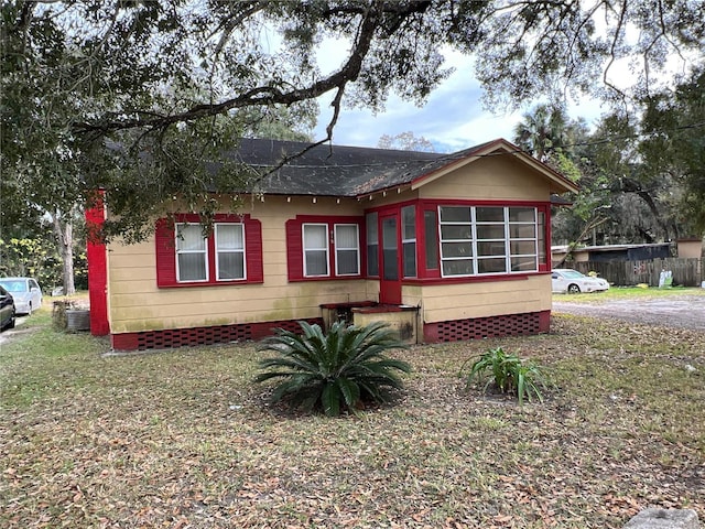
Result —
<path fill-rule="evenodd" d="M 312 144 L 305 142 L 242 139 L 230 158 L 254 171 L 249 192 L 358 197 L 410 185 L 422 176 L 484 151 L 491 143 L 511 145 L 496 140 L 440 154 L 329 144 L 311 148 Z M 307 148 L 310 150 L 306 151 Z M 278 168 L 284 160 L 286 162 Z M 272 168 L 276 169 L 272 171 Z"/>

